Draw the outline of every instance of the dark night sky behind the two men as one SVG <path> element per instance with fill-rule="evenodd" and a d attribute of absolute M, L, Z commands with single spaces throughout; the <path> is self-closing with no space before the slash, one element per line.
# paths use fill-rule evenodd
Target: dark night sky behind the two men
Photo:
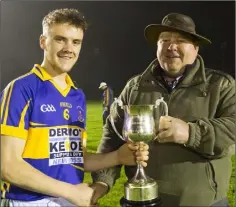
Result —
<path fill-rule="evenodd" d="M 12 79 L 41 63 L 41 21 L 56 8 L 77 8 L 90 27 L 78 63 L 70 75 L 88 100 L 101 99 L 105 81 L 118 96 L 126 81 L 155 58 L 143 35 L 150 23 L 161 23 L 170 12 L 189 15 L 199 34 L 213 44 L 200 50 L 207 67 L 235 76 L 235 2 L 126 1 L 3 1 L 1 2 L 1 89 Z"/>

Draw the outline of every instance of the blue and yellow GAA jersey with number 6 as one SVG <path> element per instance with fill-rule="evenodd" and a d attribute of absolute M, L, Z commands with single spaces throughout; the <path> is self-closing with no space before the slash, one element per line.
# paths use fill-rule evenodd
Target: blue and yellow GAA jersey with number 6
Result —
<path fill-rule="evenodd" d="M 25 140 L 22 158 L 34 168 L 79 184 L 84 178 L 86 102 L 69 75 L 66 82 L 62 91 L 40 65 L 10 82 L 0 97 L 1 134 Z M 3 182 L 1 197 L 33 201 L 48 196 Z"/>

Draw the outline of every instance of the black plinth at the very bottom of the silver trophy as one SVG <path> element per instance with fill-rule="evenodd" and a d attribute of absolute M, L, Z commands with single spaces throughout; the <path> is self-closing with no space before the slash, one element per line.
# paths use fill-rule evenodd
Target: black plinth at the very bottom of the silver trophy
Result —
<path fill-rule="evenodd" d="M 149 201 L 129 201 L 122 197 L 120 199 L 121 207 L 160 207 L 162 201 L 160 198 L 155 198 Z"/>

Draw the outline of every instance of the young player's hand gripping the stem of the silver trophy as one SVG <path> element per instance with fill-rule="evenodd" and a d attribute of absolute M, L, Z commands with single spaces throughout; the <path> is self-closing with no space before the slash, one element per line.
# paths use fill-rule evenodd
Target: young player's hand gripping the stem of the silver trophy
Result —
<path fill-rule="evenodd" d="M 149 146 L 143 142 L 126 143 L 117 150 L 118 161 L 123 165 L 136 165 L 139 161 L 143 167 L 146 167 L 146 161 L 149 159 L 148 149 Z"/>

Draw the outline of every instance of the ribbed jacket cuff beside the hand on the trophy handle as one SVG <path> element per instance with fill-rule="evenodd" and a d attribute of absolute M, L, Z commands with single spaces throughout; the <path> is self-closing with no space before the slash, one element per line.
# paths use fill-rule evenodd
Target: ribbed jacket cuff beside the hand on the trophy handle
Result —
<path fill-rule="evenodd" d="M 199 147 L 201 140 L 200 127 L 194 123 L 188 123 L 188 124 L 189 124 L 189 140 L 185 144 L 185 146 L 196 149 Z"/>

